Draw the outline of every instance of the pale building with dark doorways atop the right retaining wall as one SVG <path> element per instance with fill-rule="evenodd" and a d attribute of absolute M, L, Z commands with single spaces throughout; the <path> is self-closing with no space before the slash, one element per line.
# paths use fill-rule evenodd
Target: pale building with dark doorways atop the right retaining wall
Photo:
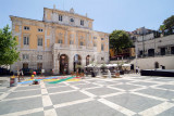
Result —
<path fill-rule="evenodd" d="M 138 56 L 142 56 L 142 52 L 145 56 L 174 55 L 174 35 L 138 41 Z"/>

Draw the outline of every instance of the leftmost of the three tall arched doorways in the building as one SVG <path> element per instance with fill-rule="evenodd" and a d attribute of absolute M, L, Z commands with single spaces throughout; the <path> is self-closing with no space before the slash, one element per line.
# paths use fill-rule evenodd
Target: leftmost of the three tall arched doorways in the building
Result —
<path fill-rule="evenodd" d="M 60 74 L 69 74 L 69 57 L 66 54 L 60 56 Z"/>

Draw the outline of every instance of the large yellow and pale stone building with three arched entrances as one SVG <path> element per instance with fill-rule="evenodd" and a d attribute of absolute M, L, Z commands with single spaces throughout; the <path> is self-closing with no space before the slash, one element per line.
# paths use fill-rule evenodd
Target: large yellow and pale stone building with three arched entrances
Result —
<path fill-rule="evenodd" d="M 70 74 L 76 64 L 109 62 L 109 34 L 92 30 L 94 20 L 55 8 L 44 8 L 42 21 L 10 16 L 20 61 L 11 70 L 32 68 Z"/>

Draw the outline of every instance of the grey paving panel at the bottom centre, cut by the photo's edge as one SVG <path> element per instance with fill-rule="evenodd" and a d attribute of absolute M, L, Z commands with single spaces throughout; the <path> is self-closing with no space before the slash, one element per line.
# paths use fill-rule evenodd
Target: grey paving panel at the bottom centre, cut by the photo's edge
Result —
<path fill-rule="evenodd" d="M 98 101 L 57 108 L 60 116 L 126 116 Z"/>

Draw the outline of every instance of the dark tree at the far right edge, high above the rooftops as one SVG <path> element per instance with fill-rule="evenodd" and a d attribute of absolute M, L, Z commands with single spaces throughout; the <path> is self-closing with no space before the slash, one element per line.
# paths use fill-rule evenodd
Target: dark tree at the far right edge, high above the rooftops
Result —
<path fill-rule="evenodd" d="M 166 18 L 163 24 L 165 25 L 166 29 L 169 29 L 170 33 L 172 33 L 172 28 L 174 27 L 174 15 Z"/>

